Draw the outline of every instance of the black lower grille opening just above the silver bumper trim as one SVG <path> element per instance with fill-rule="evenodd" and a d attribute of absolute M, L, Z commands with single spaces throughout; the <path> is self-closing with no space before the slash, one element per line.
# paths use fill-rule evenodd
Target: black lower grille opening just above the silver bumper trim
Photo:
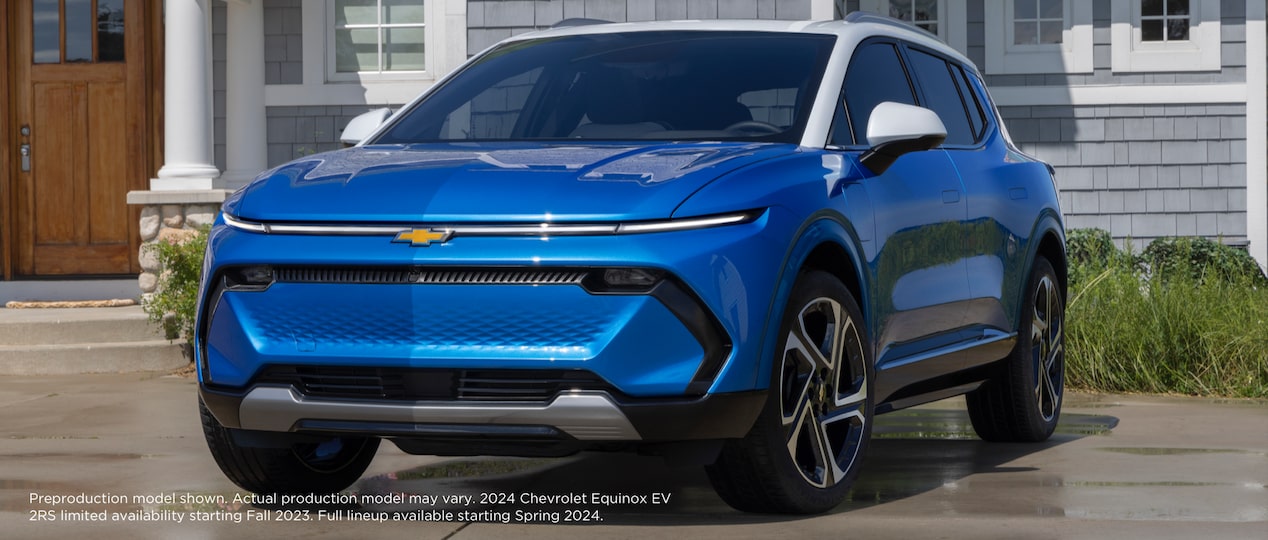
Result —
<path fill-rule="evenodd" d="M 585 370 L 473 370 L 355 366 L 270 366 L 256 383 L 289 384 L 314 398 L 464 402 L 549 402 L 559 393 L 605 390 Z"/>

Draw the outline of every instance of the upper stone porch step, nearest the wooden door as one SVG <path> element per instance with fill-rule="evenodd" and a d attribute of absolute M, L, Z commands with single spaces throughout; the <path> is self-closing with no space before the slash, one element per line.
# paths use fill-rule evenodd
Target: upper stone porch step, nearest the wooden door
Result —
<path fill-rule="evenodd" d="M 0 346 L 137 342 L 164 337 L 139 305 L 0 309 Z"/>

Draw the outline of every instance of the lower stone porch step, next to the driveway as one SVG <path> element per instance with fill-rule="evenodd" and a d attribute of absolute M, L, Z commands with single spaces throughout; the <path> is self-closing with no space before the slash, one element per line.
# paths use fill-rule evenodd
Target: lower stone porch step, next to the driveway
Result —
<path fill-rule="evenodd" d="M 79 373 L 170 371 L 189 361 L 180 341 L 148 340 L 109 344 L 3 345 L 0 375 L 67 375 Z"/>

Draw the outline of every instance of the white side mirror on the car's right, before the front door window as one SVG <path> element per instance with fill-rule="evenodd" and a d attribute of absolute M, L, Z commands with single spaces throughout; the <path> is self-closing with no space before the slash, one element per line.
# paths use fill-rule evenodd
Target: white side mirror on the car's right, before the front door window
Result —
<path fill-rule="evenodd" d="M 867 148 L 858 158 L 875 174 L 885 172 L 902 155 L 935 148 L 947 138 L 937 113 L 923 106 L 884 101 L 867 119 Z"/>

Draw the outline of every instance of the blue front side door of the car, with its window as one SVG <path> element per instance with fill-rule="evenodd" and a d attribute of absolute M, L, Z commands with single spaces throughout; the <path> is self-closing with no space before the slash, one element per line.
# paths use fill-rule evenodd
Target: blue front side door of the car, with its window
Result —
<path fill-rule="evenodd" d="M 955 369 L 954 355 L 940 355 L 961 340 L 967 299 L 962 256 L 964 186 L 942 150 L 903 155 L 881 174 L 857 162 L 867 147 L 867 122 L 883 101 L 918 104 L 898 43 L 865 42 L 846 71 L 846 120 L 833 129 L 833 147 L 844 148 L 864 171 L 861 183 L 875 209 L 875 242 L 869 259 L 874 292 L 871 332 L 879 369 L 904 366 L 877 378 L 879 395 L 889 389 Z M 932 363 L 918 363 L 931 359 Z"/>

